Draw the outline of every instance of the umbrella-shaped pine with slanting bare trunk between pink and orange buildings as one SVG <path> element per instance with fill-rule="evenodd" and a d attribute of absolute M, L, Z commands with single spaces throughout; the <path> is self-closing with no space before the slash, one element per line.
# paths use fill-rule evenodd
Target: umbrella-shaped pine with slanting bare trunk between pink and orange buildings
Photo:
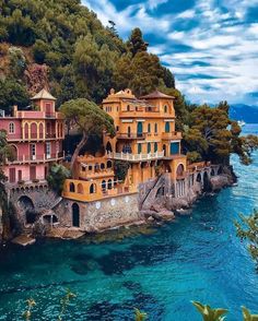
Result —
<path fill-rule="evenodd" d="M 78 144 L 71 159 L 71 171 L 74 176 L 74 165 L 80 151 L 87 143 L 91 135 L 102 136 L 103 131 L 115 134 L 113 118 L 107 115 L 93 102 L 85 98 L 72 99 L 64 103 L 60 107 L 61 112 L 66 116 L 82 134 L 81 141 Z"/>

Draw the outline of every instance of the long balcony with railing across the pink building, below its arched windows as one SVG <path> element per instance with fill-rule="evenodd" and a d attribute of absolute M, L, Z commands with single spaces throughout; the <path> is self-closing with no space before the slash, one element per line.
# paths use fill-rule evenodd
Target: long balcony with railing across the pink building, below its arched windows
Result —
<path fill-rule="evenodd" d="M 30 164 L 30 163 L 45 163 L 45 162 L 54 162 L 59 160 L 64 157 L 64 152 L 52 153 L 52 154 L 43 154 L 43 155 L 19 155 L 16 159 L 9 160 L 7 159 L 7 164 Z"/>

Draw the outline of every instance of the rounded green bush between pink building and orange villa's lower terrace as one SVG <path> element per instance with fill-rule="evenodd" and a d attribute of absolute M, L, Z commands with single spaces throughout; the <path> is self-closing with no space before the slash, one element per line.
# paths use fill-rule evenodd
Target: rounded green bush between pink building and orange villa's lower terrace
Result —
<path fill-rule="evenodd" d="M 71 176 L 70 170 L 60 164 L 54 164 L 47 176 L 49 187 L 57 193 L 61 194 L 64 180 Z"/>

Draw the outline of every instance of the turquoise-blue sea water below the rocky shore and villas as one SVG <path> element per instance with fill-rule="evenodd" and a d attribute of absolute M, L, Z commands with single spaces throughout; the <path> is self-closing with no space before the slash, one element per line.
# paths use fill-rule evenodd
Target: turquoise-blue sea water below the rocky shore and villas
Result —
<path fill-rule="evenodd" d="M 258 126 L 247 124 L 247 133 Z M 0 251 L 0 320 L 22 320 L 34 298 L 32 320 L 57 320 L 69 287 L 77 298 L 63 320 L 201 320 L 190 304 L 200 300 L 258 312 L 258 273 L 233 221 L 258 205 L 258 153 L 249 167 L 232 163 L 238 186 L 199 200 L 190 216 L 157 228 L 124 230 L 78 241 L 42 240 Z M 126 236 L 126 237 L 125 237 Z"/>

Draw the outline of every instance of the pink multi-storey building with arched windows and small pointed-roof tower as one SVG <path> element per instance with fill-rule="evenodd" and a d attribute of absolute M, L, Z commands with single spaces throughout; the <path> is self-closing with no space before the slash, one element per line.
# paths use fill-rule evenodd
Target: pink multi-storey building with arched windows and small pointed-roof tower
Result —
<path fill-rule="evenodd" d="M 7 131 L 15 158 L 4 167 L 12 185 L 45 180 L 49 165 L 63 158 L 64 121 L 55 109 L 56 98 L 42 90 L 32 102 L 35 110 L 14 106 L 13 116 L 0 116 L 0 129 Z"/>

